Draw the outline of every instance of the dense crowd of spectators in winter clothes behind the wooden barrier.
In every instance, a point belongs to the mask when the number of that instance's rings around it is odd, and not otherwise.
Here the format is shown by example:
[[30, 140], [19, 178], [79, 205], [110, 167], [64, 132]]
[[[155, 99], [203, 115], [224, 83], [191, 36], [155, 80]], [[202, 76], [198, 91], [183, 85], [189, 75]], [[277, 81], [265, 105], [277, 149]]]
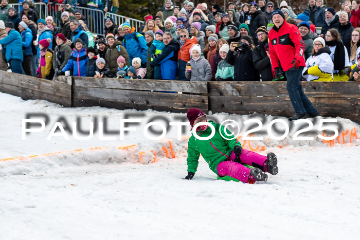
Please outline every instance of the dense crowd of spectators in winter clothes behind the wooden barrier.
[[146, 15], [137, 30], [128, 22], [118, 24], [110, 16], [101, 19], [92, 14], [95, 25], [102, 26], [101, 37], [89, 31], [88, 20], [75, 7], [116, 12], [117, 0], [56, 2], [62, 4], [55, 16], [58, 26], [51, 15], [39, 18], [32, 0], [20, 0], [20, 12], [9, 7], [7, 0], [1, 1], [2, 70], [10, 68], [47, 80], [60, 75], [183, 81], [286, 80], [286, 67], [270, 54], [271, 46], [291, 45], [292, 41], [286, 32], [269, 40], [269, 32], [286, 31], [274, 28], [273, 17], [277, 14], [287, 24], [295, 25], [301, 36], [297, 57], [305, 62], [303, 81], [360, 81], [360, 0], [342, 1], [337, 12], [325, 6], [323, 0], [309, 0], [308, 7], [298, 15], [286, 1], [279, 6], [265, 0], [240, 6], [228, 2], [222, 9], [218, 4], [195, 6], [189, 1], [177, 7], [166, 0], [163, 11]]

